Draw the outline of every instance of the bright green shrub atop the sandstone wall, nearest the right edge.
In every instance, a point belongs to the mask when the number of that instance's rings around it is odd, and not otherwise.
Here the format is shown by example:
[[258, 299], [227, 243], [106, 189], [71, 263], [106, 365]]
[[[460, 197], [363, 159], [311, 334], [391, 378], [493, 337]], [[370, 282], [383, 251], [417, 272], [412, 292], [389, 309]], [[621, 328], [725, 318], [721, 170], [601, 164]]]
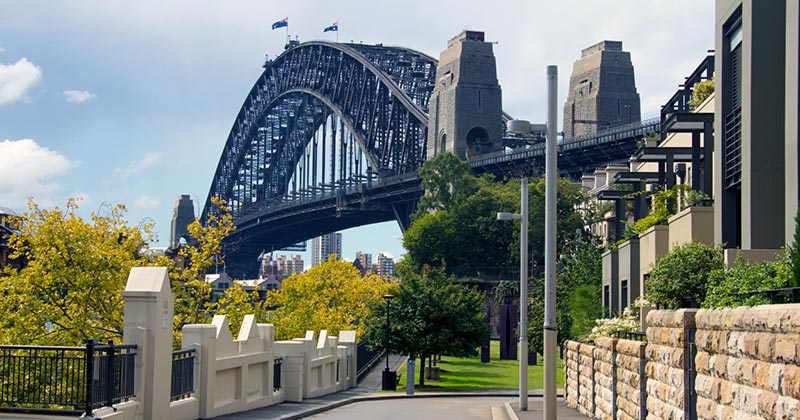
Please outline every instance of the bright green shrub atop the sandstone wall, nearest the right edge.
[[750, 264], [743, 258], [736, 267], [712, 271], [708, 276], [708, 293], [704, 308], [755, 306], [769, 303], [762, 295], [749, 296], [748, 292], [780, 289], [788, 286], [791, 267], [784, 254], [778, 261]]

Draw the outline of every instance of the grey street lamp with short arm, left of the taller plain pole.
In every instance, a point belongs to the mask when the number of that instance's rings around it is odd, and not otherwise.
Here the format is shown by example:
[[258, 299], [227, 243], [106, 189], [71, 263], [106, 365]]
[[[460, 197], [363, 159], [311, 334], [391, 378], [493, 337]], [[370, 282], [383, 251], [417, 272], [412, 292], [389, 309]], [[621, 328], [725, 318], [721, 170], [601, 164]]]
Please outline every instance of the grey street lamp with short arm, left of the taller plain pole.
[[520, 181], [520, 214], [497, 213], [497, 220], [519, 220], [519, 409], [528, 410], [528, 178]]

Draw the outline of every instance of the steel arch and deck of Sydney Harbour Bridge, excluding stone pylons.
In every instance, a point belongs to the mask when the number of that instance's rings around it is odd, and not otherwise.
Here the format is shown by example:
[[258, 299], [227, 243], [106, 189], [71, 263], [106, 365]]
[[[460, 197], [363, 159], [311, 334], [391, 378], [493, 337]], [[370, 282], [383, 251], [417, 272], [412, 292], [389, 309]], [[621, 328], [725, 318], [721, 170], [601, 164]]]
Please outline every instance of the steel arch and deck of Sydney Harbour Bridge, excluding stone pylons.
[[[422, 195], [417, 169], [428, 155], [438, 64], [408, 48], [324, 41], [292, 42], [268, 60], [236, 115], [203, 210], [214, 212], [218, 196], [234, 218], [228, 271], [252, 275], [262, 250], [325, 233], [391, 220], [408, 228]], [[627, 159], [658, 126], [634, 122], [564, 143], [559, 170], [576, 177]], [[541, 172], [543, 138], [504, 131], [502, 144], [470, 155], [473, 171]]]

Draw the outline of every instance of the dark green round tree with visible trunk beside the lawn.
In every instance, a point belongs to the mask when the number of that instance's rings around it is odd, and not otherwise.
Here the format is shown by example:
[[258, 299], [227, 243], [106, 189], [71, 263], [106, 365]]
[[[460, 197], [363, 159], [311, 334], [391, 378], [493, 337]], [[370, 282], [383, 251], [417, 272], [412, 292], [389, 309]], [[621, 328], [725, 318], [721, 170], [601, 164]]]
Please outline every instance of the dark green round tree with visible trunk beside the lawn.
[[[389, 310], [391, 351], [419, 359], [434, 355], [474, 356], [489, 333], [483, 294], [454, 283], [444, 268], [398, 264], [401, 282]], [[366, 337], [375, 348], [386, 342], [386, 303], [374, 302]], [[419, 384], [425, 386], [423, 369]]]

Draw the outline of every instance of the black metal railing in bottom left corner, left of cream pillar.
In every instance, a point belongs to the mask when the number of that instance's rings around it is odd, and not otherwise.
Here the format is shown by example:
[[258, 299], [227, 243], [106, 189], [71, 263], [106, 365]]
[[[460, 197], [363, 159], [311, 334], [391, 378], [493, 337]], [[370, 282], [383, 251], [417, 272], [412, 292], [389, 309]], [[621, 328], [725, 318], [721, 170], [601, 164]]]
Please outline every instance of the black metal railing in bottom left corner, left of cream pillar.
[[134, 396], [136, 345], [0, 346], [0, 411], [92, 410]]

